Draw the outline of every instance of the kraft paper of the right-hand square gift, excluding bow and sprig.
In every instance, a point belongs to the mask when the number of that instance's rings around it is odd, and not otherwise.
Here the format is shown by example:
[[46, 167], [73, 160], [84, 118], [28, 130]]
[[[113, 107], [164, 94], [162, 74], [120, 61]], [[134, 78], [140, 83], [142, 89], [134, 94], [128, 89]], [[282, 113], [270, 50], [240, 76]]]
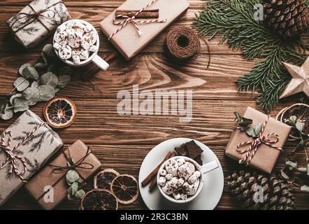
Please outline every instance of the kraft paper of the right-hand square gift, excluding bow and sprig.
[[[268, 116], [266, 114], [261, 113], [251, 107], [247, 107], [245, 113], [243, 114], [244, 118], [250, 118], [253, 120], [252, 126], [255, 127], [259, 123], [265, 123]], [[278, 134], [279, 141], [273, 146], [277, 146], [283, 149], [285, 146], [285, 141], [289, 137], [289, 132], [291, 131], [291, 127], [286, 125], [285, 123], [281, 123], [279, 120], [275, 120], [274, 118], [269, 118], [268, 123], [265, 127], [264, 132], [262, 133], [263, 136], [266, 136], [269, 133]], [[269, 137], [270, 139], [274, 139], [273, 137]], [[245, 141], [253, 141], [254, 139], [248, 136], [245, 132], [240, 131], [238, 129], [234, 130], [231, 134], [231, 139], [229, 140], [229, 144], [227, 144], [227, 148], [225, 154], [232, 158], [233, 160], [241, 160], [245, 158], [245, 153], [238, 153], [236, 148], [238, 144], [243, 143]], [[241, 146], [240, 150], [245, 150], [250, 145]], [[251, 151], [252, 153], [252, 151]], [[253, 156], [252, 160], [249, 163], [250, 167], [254, 169], [258, 169], [262, 172], [266, 172], [271, 174], [273, 172], [273, 168], [278, 160], [281, 151], [275, 149], [271, 146], [267, 146], [266, 144], [260, 144], [257, 147], [257, 151]]]

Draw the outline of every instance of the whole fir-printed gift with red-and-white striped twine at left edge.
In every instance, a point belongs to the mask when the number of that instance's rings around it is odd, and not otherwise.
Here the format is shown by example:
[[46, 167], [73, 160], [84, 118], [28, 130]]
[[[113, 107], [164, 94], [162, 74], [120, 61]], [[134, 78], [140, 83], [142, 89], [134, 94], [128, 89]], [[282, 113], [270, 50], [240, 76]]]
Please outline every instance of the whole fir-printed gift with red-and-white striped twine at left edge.
[[62, 140], [35, 113], [25, 111], [0, 141], [0, 205], [62, 147]]

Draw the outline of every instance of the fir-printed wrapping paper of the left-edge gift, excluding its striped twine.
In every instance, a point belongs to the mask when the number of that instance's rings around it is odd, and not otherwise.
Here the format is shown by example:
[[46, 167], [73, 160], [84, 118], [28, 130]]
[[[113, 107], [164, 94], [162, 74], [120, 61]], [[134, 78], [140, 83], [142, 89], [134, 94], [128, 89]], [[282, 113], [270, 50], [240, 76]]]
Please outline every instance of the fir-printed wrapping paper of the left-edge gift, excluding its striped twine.
[[[7, 129], [12, 132], [10, 148], [13, 149], [21, 138], [41, 123], [43, 123], [43, 120], [35, 113], [31, 111], [22, 113], [22, 116], [17, 118]], [[8, 135], [5, 137], [6, 144], [7, 141]], [[62, 147], [62, 140], [48, 125], [38, 128], [24, 144], [13, 151], [13, 153], [21, 155], [27, 162], [27, 172], [22, 177], [28, 180], [60, 147]], [[3, 153], [0, 148], [0, 161], [3, 162], [4, 160], [6, 160], [6, 153]], [[17, 160], [17, 164], [18, 167], [22, 167], [19, 160]], [[14, 173], [8, 175], [8, 166], [0, 169], [0, 205], [4, 204], [23, 185], [22, 180]]]

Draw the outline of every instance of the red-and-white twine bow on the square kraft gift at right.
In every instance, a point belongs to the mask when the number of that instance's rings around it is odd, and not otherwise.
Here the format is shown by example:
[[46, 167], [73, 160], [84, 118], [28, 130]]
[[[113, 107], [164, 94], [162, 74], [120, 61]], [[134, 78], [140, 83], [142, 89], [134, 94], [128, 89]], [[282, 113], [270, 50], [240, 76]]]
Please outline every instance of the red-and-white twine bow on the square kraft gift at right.
[[[251, 162], [255, 153], [257, 153], [257, 149], [259, 148], [259, 146], [261, 144], [266, 144], [267, 146], [270, 146], [271, 148], [275, 148], [277, 150], [282, 151], [282, 148], [273, 145], [273, 144], [276, 144], [279, 141], [278, 134], [271, 132], [271, 133], [268, 133], [266, 135], [262, 135], [264, 130], [265, 130], [265, 127], [268, 123], [269, 118], [270, 118], [270, 116], [268, 116], [265, 123], [262, 125], [261, 131], [259, 132], [259, 137], [257, 139], [254, 139], [254, 141], [244, 141], [244, 142], [237, 145], [236, 151], [238, 151], [238, 153], [240, 153], [240, 154], [245, 153], [245, 158], [239, 160], [240, 164], [243, 164], [243, 162], [247, 162], [246, 165], [249, 165], [249, 163]], [[273, 137], [274, 139], [271, 139], [271, 137]], [[250, 145], [250, 146], [246, 150], [241, 151], [239, 149], [240, 147], [247, 146], [247, 145]]]

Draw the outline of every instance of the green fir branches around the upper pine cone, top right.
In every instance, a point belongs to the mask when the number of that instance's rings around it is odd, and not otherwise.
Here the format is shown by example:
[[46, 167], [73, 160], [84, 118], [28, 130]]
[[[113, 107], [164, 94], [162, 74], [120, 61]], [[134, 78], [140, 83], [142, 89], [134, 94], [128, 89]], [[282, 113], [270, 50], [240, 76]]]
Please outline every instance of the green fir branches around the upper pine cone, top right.
[[[278, 105], [280, 94], [290, 80], [282, 62], [302, 64], [305, 50], [309, 47], [306, 38], [282, 39], [254, 20], [254, 5], [261, 0], [211, 0], [196, 14], [194, 27], [203, 36], [221, 36], [220, 43], [227, 42], [231, 48], [242, 50], [245, 59], [261, 58], [251, 71], [238, 78], [238, 90], [252, 90], [257, 104], [266, 111]], [[309, 5], [309, 0], [306, 0]], [[303, 96], [301, 96], [303, 97]], [[304, 99], [308, 102], [308, 99]]]

